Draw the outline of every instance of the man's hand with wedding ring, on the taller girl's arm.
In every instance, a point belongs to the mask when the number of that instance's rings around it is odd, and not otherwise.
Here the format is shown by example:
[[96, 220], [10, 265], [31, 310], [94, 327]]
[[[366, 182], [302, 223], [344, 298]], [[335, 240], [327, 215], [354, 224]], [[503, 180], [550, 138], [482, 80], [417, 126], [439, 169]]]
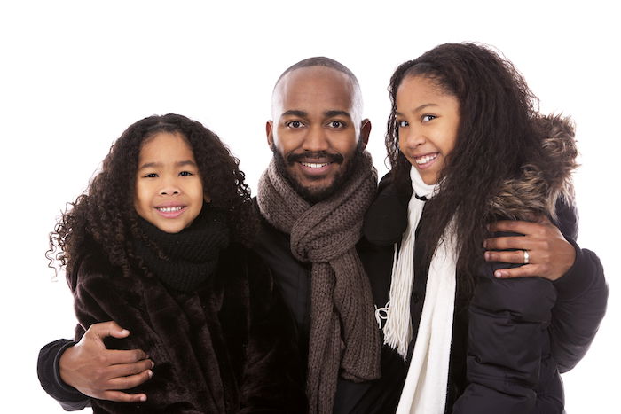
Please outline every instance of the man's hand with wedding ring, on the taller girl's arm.
[[[524, 251], [529, 256], [529, 264], [519, 268], [496, 270], [495, 277], [539, 276], [556, 280], [567, 273], [576, 260], [574, 247], [546, 218], [539, 223], [500, 221], [492, 223], [490, 230], [521, 233], [524, 236], [486, 239], [483, 246], [487, 250], [487, 262], [523, 263]], [[506, 249], [517, 250], [498, 251]]]

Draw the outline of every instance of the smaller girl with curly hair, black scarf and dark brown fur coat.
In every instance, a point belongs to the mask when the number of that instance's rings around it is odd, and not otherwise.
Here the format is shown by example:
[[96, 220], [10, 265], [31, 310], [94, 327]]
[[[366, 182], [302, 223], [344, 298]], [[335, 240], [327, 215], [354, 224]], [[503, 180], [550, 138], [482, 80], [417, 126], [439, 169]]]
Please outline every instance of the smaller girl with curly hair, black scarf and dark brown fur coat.
[[218, 137], [168, 114], [131, 125], [51, 234], [66, 266], [79, 340], [114, 320], [153, 378], [139, 404], [92, 400], [94, 412], [302, 412], [287, 310], [248, 250], [248, 186]]

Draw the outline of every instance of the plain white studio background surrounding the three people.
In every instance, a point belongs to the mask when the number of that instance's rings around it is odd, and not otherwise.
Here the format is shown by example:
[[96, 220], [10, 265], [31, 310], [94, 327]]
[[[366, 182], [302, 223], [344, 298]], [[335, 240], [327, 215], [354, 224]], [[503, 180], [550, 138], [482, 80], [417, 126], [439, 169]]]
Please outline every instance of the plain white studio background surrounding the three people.
[[130, 123], [169, 112], [202, 121], [240, 158], [255, 193], [271, 157], [264, 123], [273, 83], [300, 59], [328, 56], [358, 75], [383, 174], [390, 74], [439, 43], [462, 41], [503, 51], [543, 112], [577, 123], [578, 243], [599, 254], [612, 293], [589, 354], [563, 375], [567, 410], [617, 406], [621, 31], [609, 2], [222, 3], [0, 5], [0, 410], [61, 412], [35, 373], [39, 348], [71, 337], [75, 320], [64, 278], [53, 281], [46, 267], [47, 234]]

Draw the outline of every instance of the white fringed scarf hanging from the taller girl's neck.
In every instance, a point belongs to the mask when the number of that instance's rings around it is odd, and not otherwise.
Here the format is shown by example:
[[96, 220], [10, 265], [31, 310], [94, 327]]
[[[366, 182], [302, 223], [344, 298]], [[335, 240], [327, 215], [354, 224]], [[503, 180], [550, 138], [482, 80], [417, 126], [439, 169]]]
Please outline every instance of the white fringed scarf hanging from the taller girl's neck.
[[[410, 170], [410, 176], [413, 194], [408, 205], [408, 226], [398, 256], [395, 246], [388, 320], [384, 326], [384, 342], [396, 349], [404, 359], [412, 340], [410, 297], [414, 278], [415, 232], [425, 206], [425, 201], [416, 196], [430, 199], [437, 187], [437, 184], [425, 184], [414, 167]], [[421, 324], [397, 414], [444, 413], [455, 304], [457, 252], [454, 238], [454, 224], [451, 222], [444, 230], [429, 265]]]

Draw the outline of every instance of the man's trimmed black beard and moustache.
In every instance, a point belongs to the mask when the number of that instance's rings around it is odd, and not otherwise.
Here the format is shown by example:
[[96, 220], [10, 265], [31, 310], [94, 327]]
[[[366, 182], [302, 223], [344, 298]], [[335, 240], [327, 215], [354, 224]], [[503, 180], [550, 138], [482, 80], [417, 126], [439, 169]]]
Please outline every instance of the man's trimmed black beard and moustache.
[[276, 170], [279, 172], [279, 175], [287, 180], [287, 183], [291, 185], [291, 187], [300, 197], [302, 197], [310, 204], [316, 204], [319, 201], [323, 201], [332, 197], [334, 193], [341, 190], [342, 187], [347, 184], [348, 181], [350, 181], [350, 178], [360, 160], [360, 154], [363, 152], [363, 146], [362, 140], [358, 140], [356, 150], [354, 150], [354, 153], [351, 156], [351, 159], [348, 161], [345, 170], [337, 173], [334, 176], [332, 184], [329, 184], [326, 187], [322, 188], [304, 187], [302, 184], [295, 180], [294, 176], [291, 176], [289, 174], [287, 166], [293, 165], [297, 160], [302, 158], [305, 160], [313, 158], [321, 158], [325, 160], [327, 158], [328, 160], [330, 160], [330, 162], [342, 164], [342, 162], [344, 162], [344, 158], [341, 154], [331, 154], [325, 151], [304, 152], [301, 154], [289, 154], [287, 155], [287, 160], [285, 160], [285, 157], [283, 157], [283, 155], [278, 152], [275, 145], [271, 146], [271, 152], [273, 152], [274, 154], [274, 162], [276, 164]]

